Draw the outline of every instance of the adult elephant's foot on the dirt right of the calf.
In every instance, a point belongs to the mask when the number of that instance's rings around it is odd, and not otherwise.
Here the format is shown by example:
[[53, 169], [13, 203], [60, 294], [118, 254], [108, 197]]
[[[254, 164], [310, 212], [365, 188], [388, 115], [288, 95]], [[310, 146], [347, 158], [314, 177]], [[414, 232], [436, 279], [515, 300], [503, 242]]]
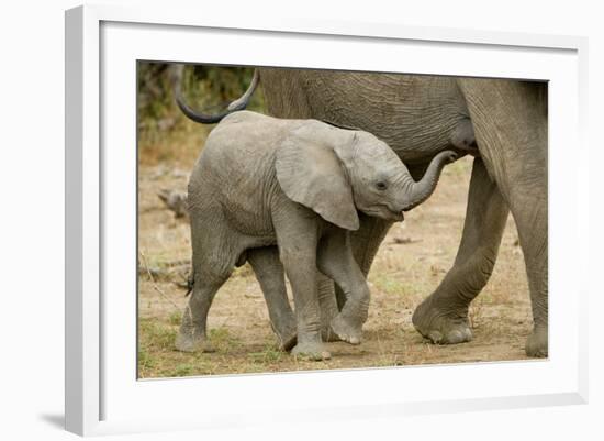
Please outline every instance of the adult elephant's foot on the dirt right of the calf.
[[435, 344], [456, 344], [472, 340], [468, 318], [434, 307], [429, 297], [415, 309], [412, 322], [417, 332]]

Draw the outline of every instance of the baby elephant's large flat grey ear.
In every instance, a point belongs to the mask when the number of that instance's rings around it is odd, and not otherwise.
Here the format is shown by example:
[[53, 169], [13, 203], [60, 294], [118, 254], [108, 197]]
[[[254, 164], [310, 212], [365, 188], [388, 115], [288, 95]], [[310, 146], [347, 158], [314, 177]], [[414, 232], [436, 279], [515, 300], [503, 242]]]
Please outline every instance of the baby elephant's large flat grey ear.
[[312, 209], [327, 222], [358, 230], [353, 189], [328, 145], [316, 142], [309, 133], [294, 133], [277, 151], [275, 167], [288, 198]]

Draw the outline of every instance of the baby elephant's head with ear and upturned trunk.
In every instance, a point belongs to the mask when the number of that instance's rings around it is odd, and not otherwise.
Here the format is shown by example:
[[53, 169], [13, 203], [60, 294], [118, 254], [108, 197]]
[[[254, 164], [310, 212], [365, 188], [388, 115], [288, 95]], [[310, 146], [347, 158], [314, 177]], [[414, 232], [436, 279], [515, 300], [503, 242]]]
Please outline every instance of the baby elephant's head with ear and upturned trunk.
[[357, 210], [400, 221], [436, 188], [451, 151], [434, 157], [413, 180], [396, 154], [370, 133], [312, 121], [293, 131], [277, 152], [277, 178], [286, 195], [338, 227], [356, 230]]

